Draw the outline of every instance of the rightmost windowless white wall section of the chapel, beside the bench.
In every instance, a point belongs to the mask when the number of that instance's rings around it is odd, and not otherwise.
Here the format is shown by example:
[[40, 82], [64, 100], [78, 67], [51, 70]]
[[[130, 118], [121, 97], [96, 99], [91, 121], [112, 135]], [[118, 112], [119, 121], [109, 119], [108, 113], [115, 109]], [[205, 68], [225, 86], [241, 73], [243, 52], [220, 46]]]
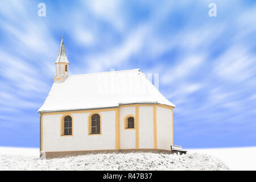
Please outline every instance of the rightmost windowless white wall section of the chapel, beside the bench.
[[157, 106], [156, 125], [158, 148], [170, 150], [172, 144], [172, 110]]

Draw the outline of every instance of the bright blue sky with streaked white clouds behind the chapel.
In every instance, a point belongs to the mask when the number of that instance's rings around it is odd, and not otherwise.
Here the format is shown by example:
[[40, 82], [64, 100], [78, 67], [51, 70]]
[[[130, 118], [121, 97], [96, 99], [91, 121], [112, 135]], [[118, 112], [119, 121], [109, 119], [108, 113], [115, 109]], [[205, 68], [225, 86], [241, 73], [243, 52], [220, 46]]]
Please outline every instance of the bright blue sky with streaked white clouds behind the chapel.
[[244, 0], [0, 1], [0, 146], [39, 147], [62, 34], [69, 75], [159, 73], [175, 144], [256, 146], [256, 3]]

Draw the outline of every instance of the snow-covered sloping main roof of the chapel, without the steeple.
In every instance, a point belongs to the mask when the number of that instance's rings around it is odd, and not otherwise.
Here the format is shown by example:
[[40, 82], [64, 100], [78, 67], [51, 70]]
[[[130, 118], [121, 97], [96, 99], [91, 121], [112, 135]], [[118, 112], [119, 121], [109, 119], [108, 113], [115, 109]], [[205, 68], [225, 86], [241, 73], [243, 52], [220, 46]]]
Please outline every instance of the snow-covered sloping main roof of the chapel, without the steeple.
[[100, 109], [125, 104], [175, 107], [139, 69], [68, 76], [52, 88], [38, 112]]

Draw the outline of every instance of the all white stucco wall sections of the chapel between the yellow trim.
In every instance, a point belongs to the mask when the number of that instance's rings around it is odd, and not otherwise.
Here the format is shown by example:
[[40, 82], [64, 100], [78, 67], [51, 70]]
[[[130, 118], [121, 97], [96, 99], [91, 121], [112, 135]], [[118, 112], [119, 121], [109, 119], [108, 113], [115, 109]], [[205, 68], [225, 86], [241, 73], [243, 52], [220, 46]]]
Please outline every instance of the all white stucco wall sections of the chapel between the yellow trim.
[[[88, 134], [90, 113], [71, 113], [73, 136], [60, 135], [63, 114], [42, 115], [43, 151], [81, 151], [115, 149], [115, 111], [101, 111], [101, 135]], [[135, 106], [120, 107], [120, 149], [136, 148], [136, 130], [125, 129], [125, 117], [134, 115]], [[137, 120], [135, 119], [135, 126]], [[170, 150], [172, 144], [172, 110], [156, 106], [157, 148]], [[154, 107], [139, 106], [139, 148], [154, 148]]]

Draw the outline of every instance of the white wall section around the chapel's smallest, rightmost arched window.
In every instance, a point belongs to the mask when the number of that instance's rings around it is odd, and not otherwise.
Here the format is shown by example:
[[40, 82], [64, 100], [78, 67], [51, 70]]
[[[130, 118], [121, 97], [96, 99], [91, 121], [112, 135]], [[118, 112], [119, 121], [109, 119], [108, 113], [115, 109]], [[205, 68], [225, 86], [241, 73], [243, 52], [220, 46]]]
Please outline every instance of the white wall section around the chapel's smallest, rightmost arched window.
[[121, 107], [120, 108], [120, 148], [130, 149], [136, 147], [136, 131], [135, 130], [125, 130], [125, 117], [126, 115], [135, 116], [135, 107]]

